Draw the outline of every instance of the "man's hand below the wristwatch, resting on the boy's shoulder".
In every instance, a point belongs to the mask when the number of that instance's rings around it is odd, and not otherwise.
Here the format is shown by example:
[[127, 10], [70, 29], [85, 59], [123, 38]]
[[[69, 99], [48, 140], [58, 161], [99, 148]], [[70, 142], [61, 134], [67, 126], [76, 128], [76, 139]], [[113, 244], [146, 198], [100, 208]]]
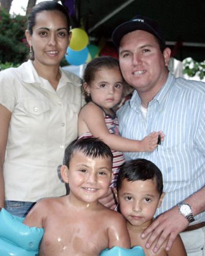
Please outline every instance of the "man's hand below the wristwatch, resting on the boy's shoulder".
[[179, 213], [178, 206], [160, 214], [156, 220], [141, 234], [141, 238], [149, 239], [146, 243], [146, 248], [150, 248], [156, 238], [156, 244], [153, 252], [157, 252], [160, 246], [169, 237], [166, 250], [170, 250], [176, 236], [189, 226], [188, 220]]

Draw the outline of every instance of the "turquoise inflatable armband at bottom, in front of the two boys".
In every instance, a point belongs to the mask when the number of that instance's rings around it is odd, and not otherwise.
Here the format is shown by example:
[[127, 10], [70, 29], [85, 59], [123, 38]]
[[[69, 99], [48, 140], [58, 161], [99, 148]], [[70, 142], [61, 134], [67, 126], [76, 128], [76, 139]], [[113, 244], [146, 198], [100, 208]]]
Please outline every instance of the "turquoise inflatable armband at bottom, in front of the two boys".
[[100, 256], [145, 256], [145, 252], [140, 246], [133, 246], [131, 249], [113, 246], [111, 249], [107, 248], [101, 251], [99, 255]]

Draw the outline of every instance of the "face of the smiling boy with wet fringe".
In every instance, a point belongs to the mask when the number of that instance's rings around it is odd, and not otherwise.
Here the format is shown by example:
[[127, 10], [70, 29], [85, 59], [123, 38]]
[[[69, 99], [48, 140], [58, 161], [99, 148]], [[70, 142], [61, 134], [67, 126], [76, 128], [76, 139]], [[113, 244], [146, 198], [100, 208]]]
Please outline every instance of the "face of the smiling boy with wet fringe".
[[70, 197], [85, 203], [97, 202], [109, 189], [111, 170], [110, 157], [92, 158], [76, 151], [68, 169]]

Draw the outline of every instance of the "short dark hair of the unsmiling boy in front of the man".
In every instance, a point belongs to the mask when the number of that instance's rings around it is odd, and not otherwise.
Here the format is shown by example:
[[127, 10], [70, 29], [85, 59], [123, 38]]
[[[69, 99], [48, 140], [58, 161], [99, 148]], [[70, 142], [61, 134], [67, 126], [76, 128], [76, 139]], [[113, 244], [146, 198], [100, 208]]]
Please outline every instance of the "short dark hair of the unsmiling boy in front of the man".
[[155, 180], [159, 195], [161, 195], [163, 192], [163, 179], [161, 171], [149, 160], [130, 160], [122, 165], [117, 179], [117, 191], [120, 189], [122, 181], [125, 179], [128, 181]]

